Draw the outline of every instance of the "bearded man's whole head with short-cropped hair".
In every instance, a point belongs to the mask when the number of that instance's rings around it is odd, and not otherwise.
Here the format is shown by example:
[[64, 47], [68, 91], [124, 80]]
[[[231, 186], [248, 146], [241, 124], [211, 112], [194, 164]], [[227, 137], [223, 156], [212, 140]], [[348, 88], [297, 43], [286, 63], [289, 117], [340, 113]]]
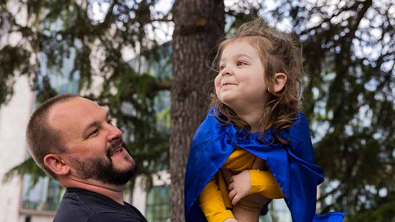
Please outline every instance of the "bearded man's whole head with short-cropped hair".
[[78, 95], [63, 94], [43, 103], [26, 135], [36, 163], [55, 179], [73, 176], [123, 185], [135, 173], [135, 162], [108, 112]]

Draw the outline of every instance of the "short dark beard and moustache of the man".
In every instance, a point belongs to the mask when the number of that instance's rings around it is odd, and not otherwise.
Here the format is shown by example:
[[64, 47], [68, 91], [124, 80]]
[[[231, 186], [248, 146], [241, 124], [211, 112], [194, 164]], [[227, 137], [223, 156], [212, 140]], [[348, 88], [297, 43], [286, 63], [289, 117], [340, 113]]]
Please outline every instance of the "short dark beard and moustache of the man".
[[[106, 150], [106, 157], [93, 157], [87, 159], [80, 159], [78, 157], [70, 157], [72, 166], [78, 170], [79, 178], [86, 180], [98, 180], [105, 184], [110, 185], [124, 185], [136, 173], [136, 163], [131, 160], [131, 165], [126, 169], [116, 169], [111, 159], [110, 152], [114, 147], [118, 147], [122, 143], [122, 147], [126, 149], [127, 153], [130, 152], [126, 148], [126, 144], [119, 141], [114, 143]], [[118, 146], [117, 146], [118, 145]], [[131, 155], [130, 155], [131, 156]], [[126, 157], [125, 157], [126, 158]]]

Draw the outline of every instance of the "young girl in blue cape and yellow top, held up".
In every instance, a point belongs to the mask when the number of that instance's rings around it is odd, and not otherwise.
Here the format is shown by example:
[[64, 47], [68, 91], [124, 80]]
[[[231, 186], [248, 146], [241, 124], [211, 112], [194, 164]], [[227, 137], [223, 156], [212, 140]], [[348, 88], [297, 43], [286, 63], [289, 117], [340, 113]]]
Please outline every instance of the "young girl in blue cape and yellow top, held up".
[[315, 214], [323, 176], [297, 109], [300, 54], [291, 35], [261, 19], [220, 43], [212, 108], [195, 133], [186, 169], [187, 222], [256, 222], [267, 198], [285, 198], [293, 222], [343, 221], [342, 213]]

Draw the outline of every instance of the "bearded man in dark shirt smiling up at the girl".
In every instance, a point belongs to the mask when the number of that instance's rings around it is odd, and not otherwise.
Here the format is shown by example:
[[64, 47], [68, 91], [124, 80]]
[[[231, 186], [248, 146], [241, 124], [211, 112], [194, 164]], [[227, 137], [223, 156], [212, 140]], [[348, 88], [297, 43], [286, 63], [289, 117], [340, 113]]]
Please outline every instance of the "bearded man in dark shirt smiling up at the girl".
[[75, 94], [43, 103], [26, 132], [36, 163], [66, 187], [54, 222], [147, 222], [123, 201], [133, 158], [109, 113]]

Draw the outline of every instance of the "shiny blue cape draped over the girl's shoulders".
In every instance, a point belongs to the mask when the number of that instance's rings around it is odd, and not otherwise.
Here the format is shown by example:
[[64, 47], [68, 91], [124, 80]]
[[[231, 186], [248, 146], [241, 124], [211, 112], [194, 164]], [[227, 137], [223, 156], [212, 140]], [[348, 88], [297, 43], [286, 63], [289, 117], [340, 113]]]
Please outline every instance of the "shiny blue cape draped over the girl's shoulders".
[[279, 136], [290, 143], [276, 140], [273, 129], [265, 131], [265, 143], [260, 132], [245, 134], [232, 123], [223, 126], [213, 116], [213, 108], [197, 128], [192, 140], [185, 174], [186, 222], [206, 221], [197, 201], [205, 185], [218, 172], [235, 146], [266, 160], [285, 194], [285, 202], [293, 222], [342, 222], [343, 213], [316, 215], [316, 186], [323, 182], [322, 169], [314, 164], [309, 124], [300, 112], [295, 126], [282, 130]]

